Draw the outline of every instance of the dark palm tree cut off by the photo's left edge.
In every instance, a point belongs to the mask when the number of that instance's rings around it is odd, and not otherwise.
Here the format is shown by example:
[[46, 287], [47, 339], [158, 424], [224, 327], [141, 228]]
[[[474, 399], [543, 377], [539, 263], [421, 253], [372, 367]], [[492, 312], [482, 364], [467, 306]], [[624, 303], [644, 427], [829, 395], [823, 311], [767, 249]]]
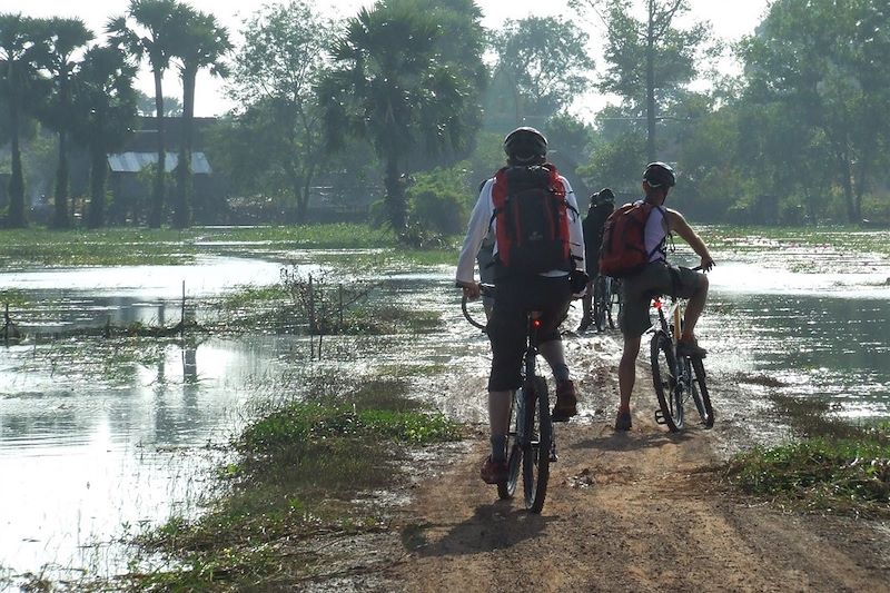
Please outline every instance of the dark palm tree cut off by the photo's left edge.
[[40, 39], [41, 27], [40, 19], [0, 14], [0, 93], [6, 98], [9, 109], [12, 152], [7, 224], [13, 228], [22, 228], [28, 224], [24, 217], [24, 180], [19, 134], [26, 98], [34, 88], [38, 67], [46, 56], [46, 46]]

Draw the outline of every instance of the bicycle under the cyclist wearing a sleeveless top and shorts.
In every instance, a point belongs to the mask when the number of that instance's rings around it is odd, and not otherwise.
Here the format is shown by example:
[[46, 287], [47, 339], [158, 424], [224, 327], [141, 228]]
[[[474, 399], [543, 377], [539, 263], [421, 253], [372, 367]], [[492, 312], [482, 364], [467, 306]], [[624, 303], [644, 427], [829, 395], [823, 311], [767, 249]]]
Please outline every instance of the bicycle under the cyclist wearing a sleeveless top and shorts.
[[[704, 364], [698, 356], [678, 356], [676, 345], [683, 329], [683, 300], [671, 297], [670, 312], [665, 315], [661, 295], [653, 299], [659, 312], [659, 326], [651, 342], [652, 382], [659, 407], [655, 422], [665, 424], [672, 433], [684, 427], [684, 406], [692, 398], [702, 424], [714, 425], [714, 409], [708, 393]], [[671, 322], [668, 322], [670, 317]]]

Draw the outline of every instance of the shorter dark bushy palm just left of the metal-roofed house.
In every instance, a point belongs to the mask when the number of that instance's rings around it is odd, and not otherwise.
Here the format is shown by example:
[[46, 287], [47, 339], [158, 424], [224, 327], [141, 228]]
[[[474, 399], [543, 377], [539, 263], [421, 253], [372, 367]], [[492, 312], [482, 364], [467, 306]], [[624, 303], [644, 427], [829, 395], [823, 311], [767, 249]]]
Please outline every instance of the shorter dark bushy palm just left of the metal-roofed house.
[[90, 157], [87, 226], [105, 225], [108, 155], [123, 146], [136, 121], [136, 67], [115, 47], [92, 47], [73, 80], [75, 139]]

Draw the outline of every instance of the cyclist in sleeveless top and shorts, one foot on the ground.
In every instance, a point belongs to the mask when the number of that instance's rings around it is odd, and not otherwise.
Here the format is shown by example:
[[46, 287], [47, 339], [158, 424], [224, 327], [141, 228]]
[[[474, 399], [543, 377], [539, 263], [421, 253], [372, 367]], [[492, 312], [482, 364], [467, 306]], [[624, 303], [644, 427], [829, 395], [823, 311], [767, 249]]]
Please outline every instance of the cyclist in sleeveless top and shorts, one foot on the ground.
[[653, 294], [688, 298], [685, 325], [678, 345], [680, 353], [704, 357], [705, 350], [695, 339], [695, 323], [704, 310], [708, 299], [708, 277], [690, 268], [668, 264], [668, 237], [676, 233], [701, 257], [701, 269], [710, 270], [714, 260], [701, 237], [692, 230], [679, 211], [664, 207], [668, 192], [676, 185], [674, 170], [664, 162], [650, 162], [643, 171], [645, 197], [635, 204], [652, 205], [645, 223], [645, 249], [649, 264], [622, 281], [624, 307], [619, 325], [624, 335], [624, 350], [619, 364], [619, 389], [621, 403], [615, 418], [616, 431], [631, 429], [631, 392], [636, 380], [635, 364], [640, 353], [640, 338], [652, 325], [649, 316]]

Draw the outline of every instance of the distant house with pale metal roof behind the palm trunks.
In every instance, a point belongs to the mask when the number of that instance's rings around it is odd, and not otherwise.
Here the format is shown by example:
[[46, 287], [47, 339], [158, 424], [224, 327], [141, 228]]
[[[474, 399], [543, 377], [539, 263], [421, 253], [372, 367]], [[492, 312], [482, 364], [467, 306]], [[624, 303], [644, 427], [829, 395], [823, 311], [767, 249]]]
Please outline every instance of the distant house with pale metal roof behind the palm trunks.
[[[192, 210], [201, 223], [220, 223], [225, 219], [227, 189], [204, 151], [207, 129], [216, 118], [195, 118], [192, 128]], [[113, 195], [110, 216], [116, 223], [134, 223], [145, 218], [151, 199], [151, 180], [157, 154], [157, 120], [140, 117], [139, 128], [120, 152], [108, 155], [109, 185]], [[181, 118], [165, 118], [164, 144], [166, 146], [164, 170], [167, 177], [166, 204], [169, 211], [175, 195], [174, 170], [179, 164], [179, 145], [182, 138]]]

